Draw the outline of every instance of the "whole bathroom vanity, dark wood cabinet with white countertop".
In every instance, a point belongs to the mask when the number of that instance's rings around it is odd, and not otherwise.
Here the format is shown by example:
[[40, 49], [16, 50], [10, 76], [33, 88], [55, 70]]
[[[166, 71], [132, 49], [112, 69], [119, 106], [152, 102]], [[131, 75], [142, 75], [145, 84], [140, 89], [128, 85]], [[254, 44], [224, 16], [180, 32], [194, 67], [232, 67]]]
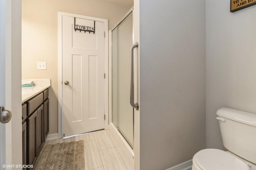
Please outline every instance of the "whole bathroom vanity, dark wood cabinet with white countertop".
[[49, 132], [50, 79], [34, 81], [35, 86], [22, 88], [22, 162], [34, 165]]

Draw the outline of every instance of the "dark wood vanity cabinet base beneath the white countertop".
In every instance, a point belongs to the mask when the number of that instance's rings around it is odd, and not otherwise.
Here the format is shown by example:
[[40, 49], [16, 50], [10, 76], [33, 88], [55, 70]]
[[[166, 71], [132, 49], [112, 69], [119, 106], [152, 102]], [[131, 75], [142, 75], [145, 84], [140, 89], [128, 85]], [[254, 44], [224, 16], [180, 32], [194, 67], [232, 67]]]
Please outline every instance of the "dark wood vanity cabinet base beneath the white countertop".
[[[25, 102], [27, 119], [22, 119], [23, 164], [35, 165], [49, 132], [48, 89]], [[22, 115], [25, 106], [22, 105]]]

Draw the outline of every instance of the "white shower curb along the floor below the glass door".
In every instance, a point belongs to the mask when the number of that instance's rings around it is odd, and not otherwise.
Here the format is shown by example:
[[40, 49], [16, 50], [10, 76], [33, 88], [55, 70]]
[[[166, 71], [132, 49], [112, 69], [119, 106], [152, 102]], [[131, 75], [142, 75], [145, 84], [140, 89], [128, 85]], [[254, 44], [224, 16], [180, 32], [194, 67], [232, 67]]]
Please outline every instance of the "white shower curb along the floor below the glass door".
[[134, 152], [132, 148], [128, 145], [126, 140], [124, 140], [123, 136], [120, 134], [120, 132], [118, 132], [112, 123], [110, 123], [109, 129], [124, 156], [126, 157], [126, 160], [132, 167], [134, 167]]

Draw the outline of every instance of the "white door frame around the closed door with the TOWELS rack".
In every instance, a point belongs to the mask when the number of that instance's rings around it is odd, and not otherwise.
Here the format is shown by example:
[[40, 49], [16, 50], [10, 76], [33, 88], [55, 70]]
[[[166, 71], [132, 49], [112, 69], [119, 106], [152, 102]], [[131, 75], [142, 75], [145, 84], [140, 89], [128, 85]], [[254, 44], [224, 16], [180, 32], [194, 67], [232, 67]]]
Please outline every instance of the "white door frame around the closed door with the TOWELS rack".
[[70, 14], [66, 12], [58, 12], [58, 138], [63, 137], [62, 124], [62, 16], [70, 16], [82, 18], [86, 20], [95, 20], [104, 23], [105, 39], [104, 39], [104, 71], [106, 74], [104, 83], [104, 109], [105, 109], [105, 129], [108, 129], [108, 20], [102, 18], [95, 18], [90, 16], [83, 16], [78, 14]]

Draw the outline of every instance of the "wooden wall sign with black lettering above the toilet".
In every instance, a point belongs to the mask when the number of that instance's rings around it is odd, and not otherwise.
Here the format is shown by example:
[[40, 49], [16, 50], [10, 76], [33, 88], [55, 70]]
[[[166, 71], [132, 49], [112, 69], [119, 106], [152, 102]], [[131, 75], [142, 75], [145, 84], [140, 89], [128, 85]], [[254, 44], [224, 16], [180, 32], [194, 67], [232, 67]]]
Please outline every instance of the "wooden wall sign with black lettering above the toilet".
[[256, 0], [230, 0], [230, 12], [236, 12], [255, 4]]

